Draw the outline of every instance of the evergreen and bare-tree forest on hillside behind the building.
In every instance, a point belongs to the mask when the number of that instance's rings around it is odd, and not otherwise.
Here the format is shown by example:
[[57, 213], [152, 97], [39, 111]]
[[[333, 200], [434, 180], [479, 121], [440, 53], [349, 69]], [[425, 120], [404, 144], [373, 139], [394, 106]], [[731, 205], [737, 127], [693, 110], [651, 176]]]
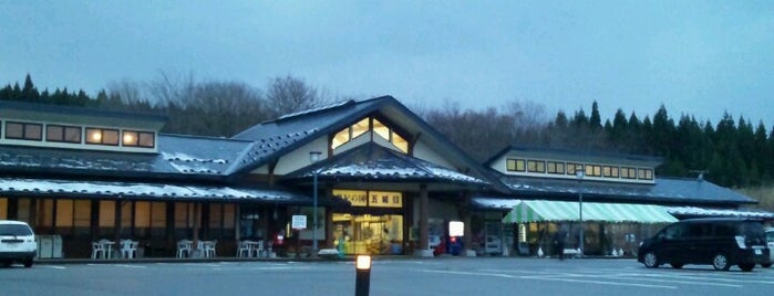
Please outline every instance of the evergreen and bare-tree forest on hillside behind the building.
[[[330, 97], [293, 76], [271, 78], [259, 88], [162, 73], [152, 82], [112, 83], [95, 97], [68, 88], [39, 91], [30, 75], [21, 85], [0, 88], [6, 101], [164, 115], [168, 123], [163, 133], [211, 137], [230, 137], [283, 114], [350, 98], [355, 97]], [[514, 145], [657, 156], [663, 158], [657, 176], [702, 175], [730, 188], [771, 186], [774, 178], [774, 130], [727, 113], [713, 124], [690, 115], [673, 118], [663, 106], [652, 117], [618, 109], [602, 121], [596, 102], [588, 115], [584, 109], [547, 115], [539, 104], [516, 101], [482, 110], [448, 103], [412, 110], [481, 162]]]

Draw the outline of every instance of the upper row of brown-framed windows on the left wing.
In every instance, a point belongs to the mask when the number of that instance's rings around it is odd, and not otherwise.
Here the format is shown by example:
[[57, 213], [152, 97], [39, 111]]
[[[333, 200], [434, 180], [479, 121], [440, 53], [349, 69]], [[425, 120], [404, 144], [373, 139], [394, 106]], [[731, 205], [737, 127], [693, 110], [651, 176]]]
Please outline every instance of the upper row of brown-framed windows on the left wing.
[[[45, 130], [45, 131], [43, 131]], [[85, 134], [83, 133], [85, 130]], [[45, 134], [44, 134], [45, 133]], [[6, 121], [6, 139], [154, 148], [152, 131]]]

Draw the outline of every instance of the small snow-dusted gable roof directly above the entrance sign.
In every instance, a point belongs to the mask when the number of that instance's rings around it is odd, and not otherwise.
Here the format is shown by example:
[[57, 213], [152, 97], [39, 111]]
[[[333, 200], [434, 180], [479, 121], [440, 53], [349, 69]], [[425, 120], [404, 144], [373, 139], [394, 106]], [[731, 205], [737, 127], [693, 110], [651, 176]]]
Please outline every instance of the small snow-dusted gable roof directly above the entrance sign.
[[389, 149], [374, 142], [361, 145], [329, 160], [299, 170], [286, 179], [309, 178], [313, 171], [338, 180], [431, 181], [487, 184], [486, 181], [422, 159]]

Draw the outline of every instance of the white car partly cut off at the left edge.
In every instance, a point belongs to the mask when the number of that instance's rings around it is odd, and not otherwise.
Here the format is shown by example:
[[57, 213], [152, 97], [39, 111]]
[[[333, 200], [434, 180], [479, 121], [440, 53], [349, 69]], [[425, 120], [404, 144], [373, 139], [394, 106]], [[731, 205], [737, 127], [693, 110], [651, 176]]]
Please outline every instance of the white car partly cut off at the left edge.
[[32, 267], [38, 253], [35, 234], [29, 224], [21, 221], [0, 220], [0, 263], [10, 266], [13, 262]]

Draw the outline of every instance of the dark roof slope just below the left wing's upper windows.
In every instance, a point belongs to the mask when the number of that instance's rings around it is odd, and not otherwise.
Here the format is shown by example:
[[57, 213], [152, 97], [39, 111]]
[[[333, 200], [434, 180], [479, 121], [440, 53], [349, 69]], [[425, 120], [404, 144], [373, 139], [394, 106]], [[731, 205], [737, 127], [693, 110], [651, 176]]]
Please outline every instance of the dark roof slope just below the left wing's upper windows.
[[158, 154], [0, 146], [0, 171], [117, 177], [224, 177], [251, 145], [224, 138], [158, 135]]

